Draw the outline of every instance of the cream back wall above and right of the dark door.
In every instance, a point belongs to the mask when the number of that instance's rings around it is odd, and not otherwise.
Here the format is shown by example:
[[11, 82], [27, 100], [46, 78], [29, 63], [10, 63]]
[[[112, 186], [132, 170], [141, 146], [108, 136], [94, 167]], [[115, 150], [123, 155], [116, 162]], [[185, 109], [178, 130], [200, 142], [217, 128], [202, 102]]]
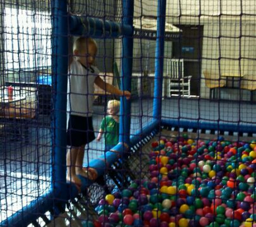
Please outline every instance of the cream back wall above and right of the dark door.
[[[167, 2], [167, 22], [204, 25], [202, 72], [220, 69], [222, 74], [247, 74], [256, 80], [255, 1], [171, 0]], [[201, 97], [209, 97], [203, 80]]]

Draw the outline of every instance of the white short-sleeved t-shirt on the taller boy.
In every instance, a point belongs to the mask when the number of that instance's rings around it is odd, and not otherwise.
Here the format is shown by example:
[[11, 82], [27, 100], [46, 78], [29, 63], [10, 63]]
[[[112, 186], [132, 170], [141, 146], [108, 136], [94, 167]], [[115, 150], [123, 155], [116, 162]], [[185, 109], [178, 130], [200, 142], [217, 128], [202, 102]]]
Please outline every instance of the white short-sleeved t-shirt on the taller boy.
[[67, 82], [67, 114], [83, 117], [92, 116], [94, 81], [99, 75], [98, 68], [87, 68], [76, 59], [70, 65]]

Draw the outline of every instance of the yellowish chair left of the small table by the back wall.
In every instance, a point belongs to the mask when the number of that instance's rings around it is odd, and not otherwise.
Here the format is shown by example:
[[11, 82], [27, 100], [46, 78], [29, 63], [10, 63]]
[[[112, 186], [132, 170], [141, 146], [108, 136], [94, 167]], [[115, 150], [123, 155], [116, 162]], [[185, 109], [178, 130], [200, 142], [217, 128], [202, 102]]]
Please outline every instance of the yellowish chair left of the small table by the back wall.
[[211, 73], [207, 70], [204, 70], [205, 77], [205, 86], [210, 88], [210, 96], [209, 98], [215, 98], [215, 89], [223, 88], [226, 86], [226, 81], [220, 79], [220, 75], [218, 73]]

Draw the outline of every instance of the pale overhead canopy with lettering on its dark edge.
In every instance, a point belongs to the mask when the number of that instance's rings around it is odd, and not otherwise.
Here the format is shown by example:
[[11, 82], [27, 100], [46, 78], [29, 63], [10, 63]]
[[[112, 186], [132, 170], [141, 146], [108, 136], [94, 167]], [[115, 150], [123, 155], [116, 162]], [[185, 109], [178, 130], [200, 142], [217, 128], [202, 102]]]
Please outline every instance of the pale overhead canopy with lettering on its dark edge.
[[[142, 17], [133, 20], [134, 37], [156, 39], [157, 20], [155, 18]], [[165, 22], [165, 39], [175, 41], [181, 35], [182, 30]]]

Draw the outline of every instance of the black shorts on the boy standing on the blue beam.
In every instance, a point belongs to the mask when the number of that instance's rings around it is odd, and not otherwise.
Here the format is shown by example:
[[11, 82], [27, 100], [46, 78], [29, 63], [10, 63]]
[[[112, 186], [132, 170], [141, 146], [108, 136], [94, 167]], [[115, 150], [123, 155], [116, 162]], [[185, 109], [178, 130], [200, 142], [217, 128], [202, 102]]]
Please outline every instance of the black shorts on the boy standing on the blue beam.
[[67, 146], [80, 147], [95, 139], [92, 117], [70, 115], [67, 127]]

